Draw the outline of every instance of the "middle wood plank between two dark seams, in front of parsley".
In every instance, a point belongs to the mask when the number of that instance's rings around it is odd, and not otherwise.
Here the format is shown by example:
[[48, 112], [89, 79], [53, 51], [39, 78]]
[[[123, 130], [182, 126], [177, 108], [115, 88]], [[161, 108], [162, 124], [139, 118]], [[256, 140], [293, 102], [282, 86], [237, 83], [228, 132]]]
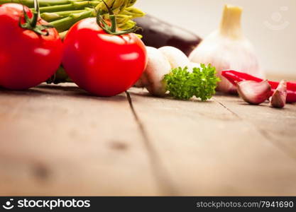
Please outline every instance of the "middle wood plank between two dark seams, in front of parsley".
[[[136, 88], [130, 93], [177, 194], [296, 195], [296, 160], [241, 119], [241, 113], [250, 115], [248, 106], [241, 105], [245, 108], [237, 115], [215, 100], [153, 98]], [[280, 116], [276, 112], [273, 116]]]

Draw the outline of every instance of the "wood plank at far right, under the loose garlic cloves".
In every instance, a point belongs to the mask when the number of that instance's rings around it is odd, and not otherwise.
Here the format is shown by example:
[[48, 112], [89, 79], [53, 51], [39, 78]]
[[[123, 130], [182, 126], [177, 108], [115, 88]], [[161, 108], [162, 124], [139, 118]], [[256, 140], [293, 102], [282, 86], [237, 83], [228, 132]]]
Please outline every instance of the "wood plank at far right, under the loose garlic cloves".
[[244, 121], [253, 124], [268, 141], [296, 160], [295, 104], [287, 104], [283, 109], [276, 109], [269, 107], [268, 102], [249, 105], [230, 95], [217, 95], [215, 99]]

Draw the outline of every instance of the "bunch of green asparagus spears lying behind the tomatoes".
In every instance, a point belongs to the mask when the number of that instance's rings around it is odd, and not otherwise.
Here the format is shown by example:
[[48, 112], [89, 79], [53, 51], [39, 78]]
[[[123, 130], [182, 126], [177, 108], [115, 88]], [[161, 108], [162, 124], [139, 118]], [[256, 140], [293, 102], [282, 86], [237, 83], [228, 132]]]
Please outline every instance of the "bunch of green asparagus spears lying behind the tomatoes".
[[[33, 9], [35, 0], [0, 0], [0, 4], [16, 3], [23, 4]], [[108, 8], [116, 15], [116, 22], [121, 30], [136, 26], [132, 19], [144, 16], [138, 8], [133, 8], [136, 0], [38, 0], [40, 5], [40, 16], [48, 21], [61, 35], [66, 30], [84, 18], [96, 17], [97, 11], [102, 11], [105, 19], [109, 19]], [[104, 4], [106, 3], [106, 5]]]

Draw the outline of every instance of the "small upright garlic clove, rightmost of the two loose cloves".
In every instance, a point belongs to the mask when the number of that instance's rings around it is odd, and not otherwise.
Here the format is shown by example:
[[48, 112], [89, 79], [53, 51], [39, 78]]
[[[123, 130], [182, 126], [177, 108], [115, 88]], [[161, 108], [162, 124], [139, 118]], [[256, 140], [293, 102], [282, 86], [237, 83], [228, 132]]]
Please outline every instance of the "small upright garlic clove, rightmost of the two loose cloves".
[[285, 107], [286, 99], [287, 99], [287, 82], [280, 81], [280, 84], [278, 84], [278, 88], [275, 89], [275, 92], [270, 97], [270, 106], [283, 108]]

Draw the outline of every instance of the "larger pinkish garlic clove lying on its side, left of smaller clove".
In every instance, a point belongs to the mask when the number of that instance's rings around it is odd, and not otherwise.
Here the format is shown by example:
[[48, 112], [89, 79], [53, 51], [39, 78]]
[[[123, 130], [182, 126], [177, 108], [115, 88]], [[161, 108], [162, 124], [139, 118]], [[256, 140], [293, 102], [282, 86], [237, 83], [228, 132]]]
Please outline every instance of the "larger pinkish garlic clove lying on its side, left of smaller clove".
[[237, 83], [239, 96], [252, 105], [259, 105], [270, 97], [271, 86], [268, 81], [241, 81]]

